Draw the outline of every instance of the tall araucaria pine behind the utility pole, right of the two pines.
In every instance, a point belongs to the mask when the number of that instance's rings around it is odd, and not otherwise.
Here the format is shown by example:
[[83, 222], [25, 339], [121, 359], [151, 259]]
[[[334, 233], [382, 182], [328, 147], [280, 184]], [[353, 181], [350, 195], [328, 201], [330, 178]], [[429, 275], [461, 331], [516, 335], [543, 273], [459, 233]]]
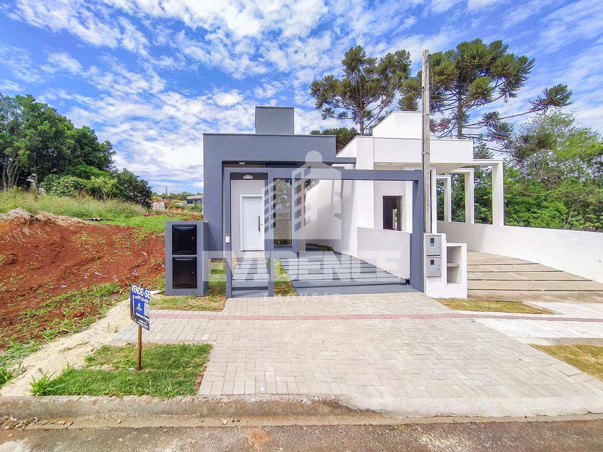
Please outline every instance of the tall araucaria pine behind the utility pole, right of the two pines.
[[[441, 117], [432, 121], [431, 129], [439, 137], [479, 138], [513, 147], [514, 127], [505, 119], [546, 112], [549, 108], [569, 105], [572, 91], [558, 84], [532, 99], [531, 108], [514, 115], [501, 116], [487, 111], [479, 118], [472, 114], [485, 105], [517, 97], [528, 79], [534, 60], [508, 51], [508, 45], [496, 40], [486, 45], [481, 39], [461, 42], [455, 49], [431, 55], [431, 108]], [[408, 78], [400, 87], [400, 110], [418, 110], [421, 96], [421, 73]]]

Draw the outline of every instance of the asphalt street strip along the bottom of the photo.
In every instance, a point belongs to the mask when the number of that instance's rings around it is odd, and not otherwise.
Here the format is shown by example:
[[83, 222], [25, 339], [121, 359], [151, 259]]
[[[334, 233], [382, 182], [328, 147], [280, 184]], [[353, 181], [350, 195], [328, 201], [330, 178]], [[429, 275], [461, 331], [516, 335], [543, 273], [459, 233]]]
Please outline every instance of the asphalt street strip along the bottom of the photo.
[[603, 419], [393, 425], [26, 428], [0, 452], [601, 452]]

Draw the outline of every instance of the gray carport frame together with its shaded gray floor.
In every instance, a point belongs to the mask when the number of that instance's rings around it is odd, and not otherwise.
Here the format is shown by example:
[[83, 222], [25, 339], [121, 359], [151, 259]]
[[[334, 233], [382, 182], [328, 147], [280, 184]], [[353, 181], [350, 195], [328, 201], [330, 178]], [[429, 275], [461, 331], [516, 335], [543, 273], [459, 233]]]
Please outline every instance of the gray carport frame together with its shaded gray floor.
[[[285, 270], [289, 274], [289, 278], [297, 290], [298, 287], [303, 292], [312, 292], [312, 288], [321, 287], [324, 291], [330, 290], [329, 293], [378, 293], [383, 292], [388, 287], [384, 286], [399, 286], [396, 289], [405, 290], [414, 289], [420, 292], [423, 291], [423, 172], [420, 170], [403, 171], [403, 170], [367, 170], [367, 169], [344, 169], [340, 167], [330, 168], [224, 168], [224, 186], [223, 186], [223, 209], [224, 209], [224, 235], [231, 235], [231, 211], [230, 211], [230, 184], [232, 180], [248, 177], [261, 177], [264, 180], [266, 193], [270, 193], [270, 187], [274, 186], [274, 180], [279, 178], [288, 178], [293, 181], [294, 190], [298, 190], [299, 181], [308, 179], [317, 180], [350, 180], [350, 181], [411, 181], [412, 182], [412, 234], [410, 246], [410, 278], [409, 285], [406, 280], [398, 278], [393, 274], [383, 271], [376, 266], [361, 261], [360, 259], [352, 262], [352, 258], [345, 255], [330, 256], [325, 261], [324, 256], [319, 260], [312, 262], [303, 256], [303, 253], [297, 254], [297, 237], [295, 228], [292, 231], [292, 246], [288, 250], [283, 247], [275, 247], [273, 240], [274, 212], [271, 206], [271, 196], [265, 196], [265, 219], [264, 219], [264, 241], [265, 241], [265, 259], [268, 260], [268, 269], [274, 268], [274, 260], [280, 259], [283, 262]], [[295, 192], [293, 199], [292, 211], [295, 215], [300, 215], [299, 198]], [[295, 220], [295, 218], [294, 218]], [[232, 281], [232, 245], [230, 240], [225, 243], [226, 255], [226, 297], [233, 296], [233, 281]], [[348, 259], [349, 258], [349, 259]], [[293, 259], [293, 260], [291, 260]], [[301, 259], [301, 260], [300, 260]], [[325, 263], [327, 264], [325, 272]], [[300, 266], [305, 270], [304, 277], [291, 277], [294, 268], [300, 269]], [[346, 269], [347, 266], [347, 269]], [[311, 268], [312, 267], [312, 268]], [[339, 271], [332, 271], [337, 268]], [[366, 271], [361, 271], [362, 269]], [[312, 270], [313, 273], [306, 271]], [[357, 271], [356, 271], [357, 270]], [[341, 277], [343, 272], [343, 277]], [[308, 276], [314, 275], [314, 276]], [[333, 277], [336, 275], [336, 277]], [[325, 284], [325, 276], [327, 282]], [[294, 282], [295, 281], [295, 282]], [[263, 284], [262, 284], [263, 285]], [[266, 281], [266, 294], [268, 297], [274, 296], [274, 272], [268, 271], [268, 280]], [[328, 287], [328, 289], [327, 289]], [[352, 288], [350, 288], [352, 287]], [[355, 288], [354, 288], [355, 287]], [[338, 288], [337, 292], [333, 292], [334, 288]], [[371, 292], [371, 289], [374, 292]], [[389, 287], [392, 289], [392, 287]], [[360, 290], [353, 291], [353, 290]], [[395, 291], [395, 290], [394, 290]], [[299, 293], [299, 292], [298, 292]]]

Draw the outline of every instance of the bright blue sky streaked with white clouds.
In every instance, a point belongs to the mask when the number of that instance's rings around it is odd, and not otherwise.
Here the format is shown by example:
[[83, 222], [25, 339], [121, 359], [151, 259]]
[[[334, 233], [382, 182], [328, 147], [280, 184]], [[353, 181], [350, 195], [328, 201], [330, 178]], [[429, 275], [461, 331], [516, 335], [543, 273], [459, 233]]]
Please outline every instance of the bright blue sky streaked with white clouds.
[[254, 105], [321, 121], [308, 86], [369, 55], [502, 39], [536, 59], [519, 97], [567, 83], [582, 124], [603, 131], [603, 2], [598, 0], [0, 0], [0, 92], [30, 93], [110, 140], [118, 168], [156, 189], [200, 191], [204, 132], [253, 131]]

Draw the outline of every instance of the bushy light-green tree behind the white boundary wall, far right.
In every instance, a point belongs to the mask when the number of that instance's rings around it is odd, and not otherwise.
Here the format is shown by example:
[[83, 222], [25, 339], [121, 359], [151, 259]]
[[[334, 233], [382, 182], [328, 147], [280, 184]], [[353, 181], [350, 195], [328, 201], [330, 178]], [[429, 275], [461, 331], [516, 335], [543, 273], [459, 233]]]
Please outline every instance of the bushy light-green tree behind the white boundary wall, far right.
[[520, 128], [505, 180], [508, 224], [603, 229], [603, 137], [567, 113]]

